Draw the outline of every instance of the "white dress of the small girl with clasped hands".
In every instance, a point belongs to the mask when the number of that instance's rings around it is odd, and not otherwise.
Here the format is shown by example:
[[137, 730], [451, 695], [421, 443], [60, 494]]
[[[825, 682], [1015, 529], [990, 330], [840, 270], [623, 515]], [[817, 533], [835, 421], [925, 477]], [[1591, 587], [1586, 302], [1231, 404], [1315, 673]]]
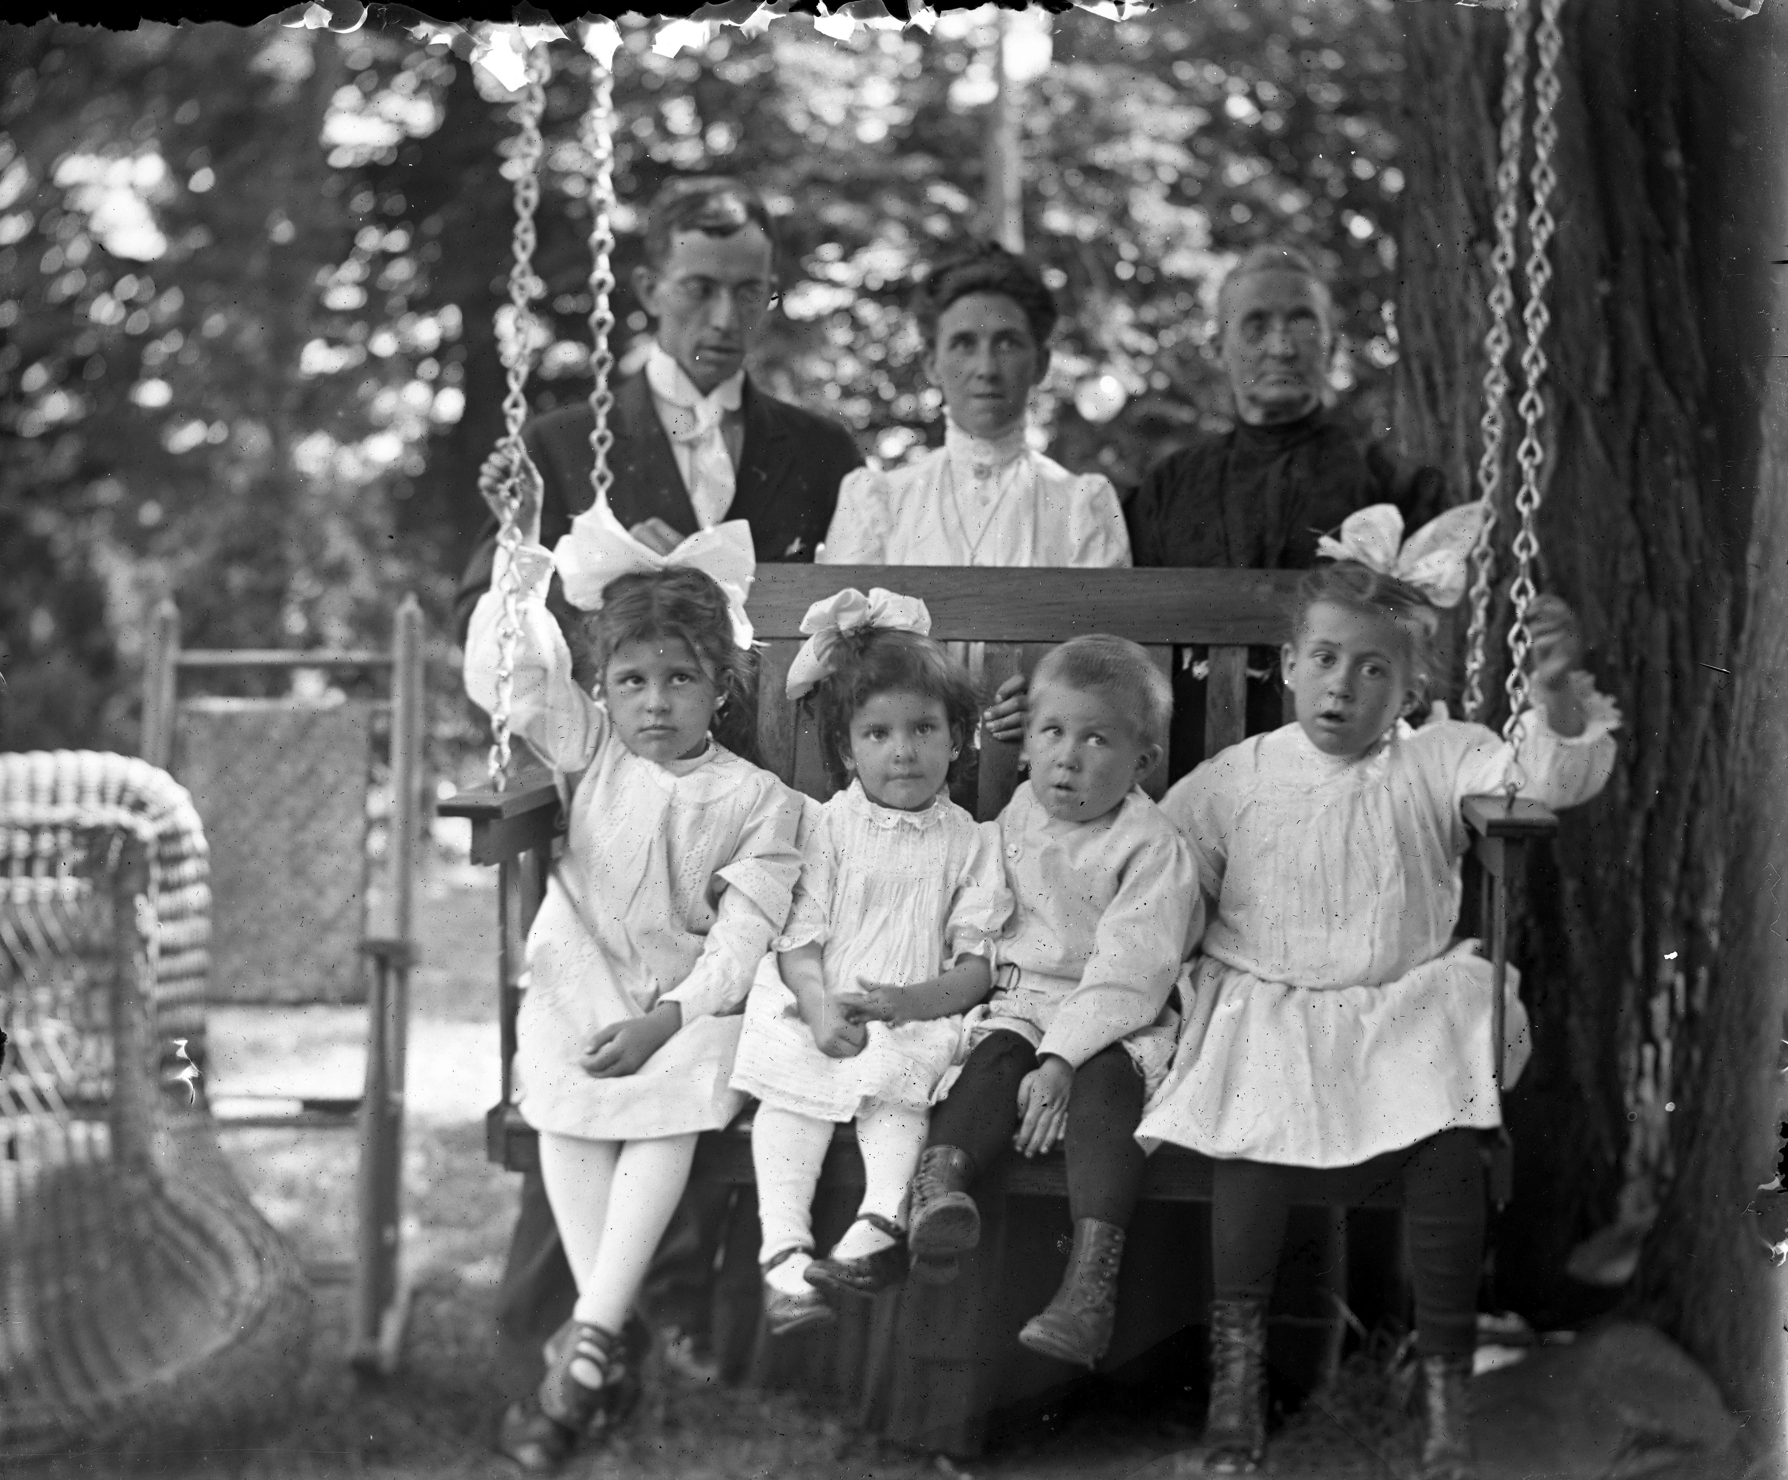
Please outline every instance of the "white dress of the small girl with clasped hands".
[[[856, 781], [824, 806], [808, 806], [806, 862], [772, 951], [821, 946], [828, 992], [858, 978], [930, 981], [960, 956], [991, 954], [991, 937], [1012, 910], [992, 828], [949, 797], [924, 811], [880, 806]], [[855, 1119], [869, 1101], [923, 1110], [960, 1035], [960, 1017], [871, 1022], [862, 1053], [830, 1058], [771, 954], [746, 1001], [733, 1089], [819, 1121]]]

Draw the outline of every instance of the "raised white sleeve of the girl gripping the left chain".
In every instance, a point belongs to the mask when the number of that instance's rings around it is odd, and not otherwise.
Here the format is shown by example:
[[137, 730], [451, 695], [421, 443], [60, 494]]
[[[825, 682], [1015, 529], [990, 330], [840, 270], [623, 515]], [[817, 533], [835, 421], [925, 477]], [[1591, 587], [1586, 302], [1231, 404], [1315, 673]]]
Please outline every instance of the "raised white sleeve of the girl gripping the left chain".
[[[510, 556], [497, 551], [495, 572], [465, 636], [465, 692], [485, 713], [497, 708], [497, 669], [502, 643], [502, 581]], [[510, 695], [510, 733], [520, 735], [560, 772], [590, 765], [608, 735], [608, 715], [570, 676], [570, 649], [552, 613], [547, 611], [547, 586], [552, 583], [552, 556], [538, 545], [515, 552], [520, 583], [517, 608], [520, 633], [515, 638], [513, 690]]]

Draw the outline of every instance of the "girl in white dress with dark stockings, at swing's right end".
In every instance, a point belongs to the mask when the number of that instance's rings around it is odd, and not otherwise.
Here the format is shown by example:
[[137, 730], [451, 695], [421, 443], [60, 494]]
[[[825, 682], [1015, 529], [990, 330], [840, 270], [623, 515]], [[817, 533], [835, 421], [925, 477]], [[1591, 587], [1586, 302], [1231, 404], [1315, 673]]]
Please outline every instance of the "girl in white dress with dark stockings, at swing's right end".
[[[1218, 1158], [1205, 1467], [1255, 1469], [1266, 1442], [1266, 1305], [1293, 1169], [1336, 1201], [1402, 1180], [1427, 1391], [1423, 1475], [1473, 1475], [1464, 1382], [1484, 1244], [1479, 1133], [1500, 1123], [1491, 969], [1454, 944], [1461, 801], [1513, 783], [1575, 806], [1607, 781], [1613, 704], [1575, 669], [1570, 610], [1534, 602], [1534, 708], [1513, 744], [1404, 715], [1434, 676], [1438, 606], [1464, 590], [1475, 506], [1398, 549], [1380, 504], [1348, 518], [1305, 577], [1284, 647], [1296, 724], [1232, 745], [1162, 810], [1210, 908], [1191, 1006], [1137, 1137]], [[1507, 1024], [1525, 1051], [1509, 987]], [[1520, 1062], [1511, 1062], [1518, 1072]], [[1309, 1176], [1309, 1173], [1302, 1173]]]

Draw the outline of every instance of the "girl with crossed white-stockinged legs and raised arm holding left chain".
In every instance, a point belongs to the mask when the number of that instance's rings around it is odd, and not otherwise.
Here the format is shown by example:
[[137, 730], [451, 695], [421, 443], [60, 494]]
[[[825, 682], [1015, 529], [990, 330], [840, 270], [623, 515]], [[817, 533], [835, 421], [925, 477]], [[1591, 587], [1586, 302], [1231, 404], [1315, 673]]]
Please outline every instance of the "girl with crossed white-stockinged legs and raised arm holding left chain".
[[[620, 1332], [688, 1180], [696, 1137], [744, 1105], [728, 1087], [751, 976], [799, 878], [799, 799], [715, 744], [738, 713], [751, 642], [740, 522], [658, 556], [606, 504], [579, 515], [549, 558], [538, 499], [499, 551], [467, 636], [465, 681], [495, 706], [502, 588], [519, 584], [510, 720], [552, 767], [570, 828], [527, 938], [517, 1022], [519, 1105], [578, 1282], [572, 1319], [547, 1342], [536, 1401], [502, 1448], [551, 1469], [624, 1392]], [[545, 593], [597, 611], [597, 695], [570, 674]]]

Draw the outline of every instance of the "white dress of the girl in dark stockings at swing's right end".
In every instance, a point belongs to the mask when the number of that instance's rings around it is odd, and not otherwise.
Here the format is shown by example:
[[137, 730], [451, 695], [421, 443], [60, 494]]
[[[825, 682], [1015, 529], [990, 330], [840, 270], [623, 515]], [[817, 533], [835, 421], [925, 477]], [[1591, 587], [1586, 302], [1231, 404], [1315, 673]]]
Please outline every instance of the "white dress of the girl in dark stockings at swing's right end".
[[[1582, 735], [1523, 719], [1522, 795], [1575, 806], [1606, 785], [1618, 715], [1588, 697]], [[1502, 792], [1516, 747], [1479, 724], [1398, 722], [1337, 760], [1287, 724], [1173, 786], [1162, 810], [1198, 854], [1212, 921], [1144, 1146], [1341, 1167], [1498, 1124], [1491, 969], [1452, 933], [1459, 803]], [[1527, 1058], [1513, 972], [1505, 999], [1513, 1081]]]

